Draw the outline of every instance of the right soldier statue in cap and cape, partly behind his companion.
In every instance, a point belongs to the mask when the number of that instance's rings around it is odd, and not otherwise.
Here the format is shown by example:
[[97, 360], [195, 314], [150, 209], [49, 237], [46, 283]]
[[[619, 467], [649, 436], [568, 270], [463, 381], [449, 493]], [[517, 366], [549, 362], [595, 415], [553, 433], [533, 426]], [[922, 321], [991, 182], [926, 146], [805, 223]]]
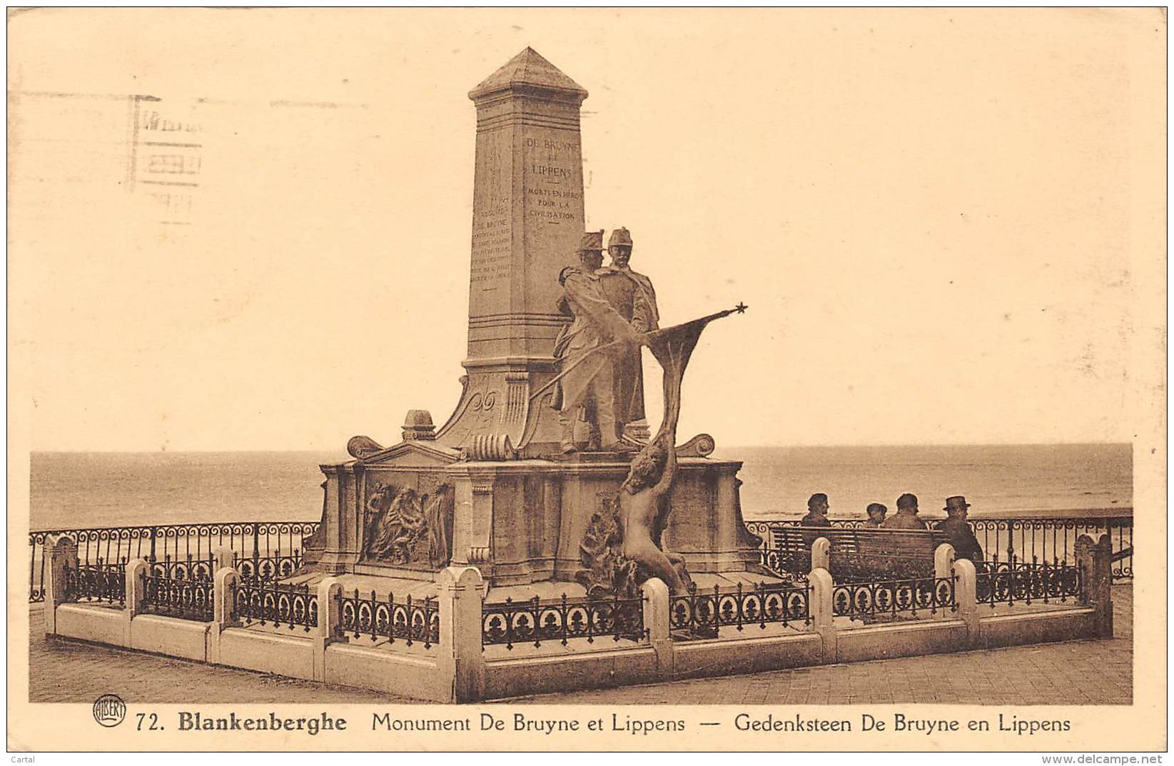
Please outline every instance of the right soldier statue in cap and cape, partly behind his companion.
[[[600, 285], [612, 304], [635, 332], [657, 329], [660, 313], [653, 282], [633, 271], [632, 234], [625, 227], [612, 231], [607, 241], [612, 263], [599, 269]], [[645, 417], [645, 375], [640, 347], [625, 348], [613, 356], [612, 392], [615, 396], [615, 428], [620, 435], [628, 423]]]

